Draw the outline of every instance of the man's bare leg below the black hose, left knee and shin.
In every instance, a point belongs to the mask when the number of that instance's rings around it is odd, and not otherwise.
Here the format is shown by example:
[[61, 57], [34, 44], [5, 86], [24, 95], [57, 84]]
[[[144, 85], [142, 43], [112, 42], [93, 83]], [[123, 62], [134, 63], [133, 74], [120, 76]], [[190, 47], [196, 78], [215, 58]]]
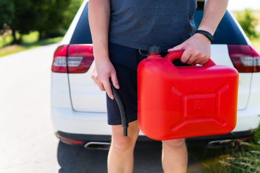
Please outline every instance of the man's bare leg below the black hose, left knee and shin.
[[112, 141], [107, 157], [108, 173], [132, 173], [134, 147], [139, 134], [137, 121], [129, 123], [128, 136], [121, 125], [112, 126]]

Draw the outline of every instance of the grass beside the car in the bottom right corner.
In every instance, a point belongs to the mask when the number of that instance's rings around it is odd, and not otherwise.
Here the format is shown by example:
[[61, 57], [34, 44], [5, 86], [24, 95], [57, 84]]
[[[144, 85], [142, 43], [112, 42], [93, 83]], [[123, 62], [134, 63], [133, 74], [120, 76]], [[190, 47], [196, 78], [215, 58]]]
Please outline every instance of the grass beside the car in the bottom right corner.
[[231, 145], [203, 151], [205, 173], [260, 173], [260, 145], [240, 140]]

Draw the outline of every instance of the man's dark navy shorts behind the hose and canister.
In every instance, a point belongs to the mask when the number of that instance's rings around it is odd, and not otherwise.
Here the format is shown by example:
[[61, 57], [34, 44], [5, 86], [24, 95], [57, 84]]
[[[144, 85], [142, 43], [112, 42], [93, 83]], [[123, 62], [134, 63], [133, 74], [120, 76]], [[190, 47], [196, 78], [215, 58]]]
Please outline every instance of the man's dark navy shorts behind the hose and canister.
[[[142, 51], [147, 54], [147, 51]], [[162, 56], [166, 53], [161, 53]], [[109, 58], [112, 62], [120, 89], [119, 94], [126, 106], [128, 122], [137, 120], [137, 66], [147, 56], [141, 55], [138, 49], [109, 43]], [[183, 65], [180, 61], [175, 65]], [[115, 99], [110, 99], [106, 94], [107, 122], [108, 125], [120, 125], [121, 116]]]

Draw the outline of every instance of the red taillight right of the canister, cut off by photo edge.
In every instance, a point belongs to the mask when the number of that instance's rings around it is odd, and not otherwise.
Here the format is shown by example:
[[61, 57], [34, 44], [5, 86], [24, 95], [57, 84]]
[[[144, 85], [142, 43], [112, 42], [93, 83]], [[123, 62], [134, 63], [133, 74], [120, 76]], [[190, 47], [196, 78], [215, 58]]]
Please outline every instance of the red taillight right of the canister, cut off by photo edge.
[[260, 54], [250, 45], [228, 45], [234, 67], [241, 73], [260, 72]]

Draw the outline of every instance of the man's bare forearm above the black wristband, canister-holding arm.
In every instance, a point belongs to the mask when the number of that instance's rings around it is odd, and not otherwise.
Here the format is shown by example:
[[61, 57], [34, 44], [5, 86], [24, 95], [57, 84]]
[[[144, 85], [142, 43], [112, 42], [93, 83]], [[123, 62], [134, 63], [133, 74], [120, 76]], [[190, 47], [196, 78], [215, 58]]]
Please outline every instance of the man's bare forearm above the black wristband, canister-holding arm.
[[205, 0], [204, 15], [199, 30], [215, 33], [217, 25], [225, 14], [228, 0]]

